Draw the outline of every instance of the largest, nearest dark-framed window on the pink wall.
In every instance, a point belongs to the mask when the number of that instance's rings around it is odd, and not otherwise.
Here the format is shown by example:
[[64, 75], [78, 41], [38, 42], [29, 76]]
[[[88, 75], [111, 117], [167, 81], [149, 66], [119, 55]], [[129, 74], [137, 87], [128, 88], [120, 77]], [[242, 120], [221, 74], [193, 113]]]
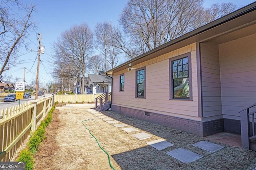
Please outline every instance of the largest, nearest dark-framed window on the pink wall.
[[170, 64], [172, 98], [191, 99], [190, 56], [180, 56], [179, 59], [172, 60]]

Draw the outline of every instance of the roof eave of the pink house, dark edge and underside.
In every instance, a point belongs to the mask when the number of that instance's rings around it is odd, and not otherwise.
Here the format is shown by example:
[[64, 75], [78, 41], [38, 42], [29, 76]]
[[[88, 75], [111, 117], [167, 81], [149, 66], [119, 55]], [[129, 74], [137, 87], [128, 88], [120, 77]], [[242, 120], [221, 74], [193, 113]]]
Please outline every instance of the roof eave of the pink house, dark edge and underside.
[[[232, 20], [235, 20], [241, 16], [244, 16], [250, 12], [255, 12], [255, 11], [256, 11], [256, 2], [253, 2], [247, 6], [244, 6], [243, 8], [240, 8], [240, 9], [222, 17], [222, 18], [214, 20], [206, 25], [203, 25], [202, 27], [199, 27], [199, 28], [197, 28], [193, 31], [190, 31], [176, 39], [173, 39], [172, 41], [169, 41], [168, 43], [160, 45], [159, 47], [156, 47], [155, 49], [152, 49], [142, 55], [139, 55], [138, 57], [135, 57], [134, 59], [131, 59], [123, 64], [120, 64], [119, 66], [116, 66], [115, 68], [112, 68], [111, 70], [104, 72], [104, 74], [113, 75], [113, 72], [118, 72], [120, 70], [126, 69], [135, 64], [158, 57], [159, 55], [166, 53], [166, 51], [170, 51], [170, 49], [175, 49], [178, 47], [189, 45], [189, 44], [195, 43], [197, 41], [206, 39], [208, 37], [214, 36], [214, 34], [216, 35], [220, 32], [225, 32], [228, 29], [233, 29], [235, 27], [238, 27], [238, 25], [250, 23], [250, 20], [255, 20], [256, 18], [247, 17], [246, 18], [247, 20], [245, 18], [242, 18], [242, 19], [240, 19], [240, 22], [237, 24], [233, 24], [233, 25], [230, 24], [228, 26], [224, 25], [225, 23], [228, 23]], [[252, 17], [255, 17], [255, 16], [252, 16]], [[241, 23], [241, 21], [243, 23]], [[222, 28], [219, 28], [219, 30], [218, 30], [218, 27], [220, 27], [220, 25], [224, 25], [224, 26]], [[212, 31], [213, 29], [215, 29], [215, 31]], [[167, 50], [167, 49], [169, 49], [169, 50]], [[146, 57], [146, 59], [144, 59], [145, 57]]]

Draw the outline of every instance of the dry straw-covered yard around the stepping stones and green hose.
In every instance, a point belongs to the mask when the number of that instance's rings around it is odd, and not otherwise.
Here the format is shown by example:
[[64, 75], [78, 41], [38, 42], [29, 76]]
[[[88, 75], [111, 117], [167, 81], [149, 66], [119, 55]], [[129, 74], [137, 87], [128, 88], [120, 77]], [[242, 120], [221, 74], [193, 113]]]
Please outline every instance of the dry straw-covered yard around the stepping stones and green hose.
[[[35, 170], [111, 170], [110, 163], [115, 170], [249, 170], [256, 167], [254, 151], [217, 143], [225, 148], [210, 153], [191, 145], [202, 140], [208, 141], [197, 135], [112, 111], [102, 112], [102, 116], [139, 129], [136, 133], [146, 132], [153, 136], [140, 141], [132, 136], [135, 132], [126, 133], [86, 109], [56, 107], [53, 120], [46, 128], [46, 139], [35, 156]], [[110, 155], [110, 163], [108, 155], [81, 123], [83, 120], [88, 120], [84, 121], [84, 125]], [[146, 144], [156, 139], [164, 139], [174, 146], [158, 151]], [[166, 154], [180, 147], [204, 157], [186, 164]]]

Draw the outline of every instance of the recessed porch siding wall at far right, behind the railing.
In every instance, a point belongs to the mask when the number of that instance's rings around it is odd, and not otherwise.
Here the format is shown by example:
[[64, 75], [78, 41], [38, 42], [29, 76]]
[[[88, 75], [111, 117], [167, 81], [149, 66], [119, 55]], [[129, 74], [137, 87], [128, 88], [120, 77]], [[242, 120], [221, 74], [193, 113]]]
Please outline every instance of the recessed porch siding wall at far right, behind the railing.
[[220, 47], [222, 113], [240, 120], [238, 111], [256, 103], [256, 34]]

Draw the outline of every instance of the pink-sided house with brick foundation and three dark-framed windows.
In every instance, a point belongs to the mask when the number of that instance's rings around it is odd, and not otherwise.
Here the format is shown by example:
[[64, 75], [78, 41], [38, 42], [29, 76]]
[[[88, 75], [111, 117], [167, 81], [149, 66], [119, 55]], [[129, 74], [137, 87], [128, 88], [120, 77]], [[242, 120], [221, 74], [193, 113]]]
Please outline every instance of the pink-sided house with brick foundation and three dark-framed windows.
[[256, 103], [256, 2], [106, 74], [113, 111], [199, 136], [239, 134], [238, 112]]

